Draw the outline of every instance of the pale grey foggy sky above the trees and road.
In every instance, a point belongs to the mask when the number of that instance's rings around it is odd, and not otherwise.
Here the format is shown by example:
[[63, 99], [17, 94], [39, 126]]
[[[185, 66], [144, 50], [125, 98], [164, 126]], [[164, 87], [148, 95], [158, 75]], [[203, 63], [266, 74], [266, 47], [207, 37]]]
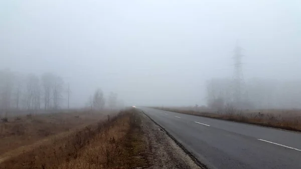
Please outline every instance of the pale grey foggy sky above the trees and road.
[[205, 104], [205, 82], [301, 77], [301, 1], [0, 0], [0, 69], [55, 72], [71, 105], [100, 87], [127, 105]]

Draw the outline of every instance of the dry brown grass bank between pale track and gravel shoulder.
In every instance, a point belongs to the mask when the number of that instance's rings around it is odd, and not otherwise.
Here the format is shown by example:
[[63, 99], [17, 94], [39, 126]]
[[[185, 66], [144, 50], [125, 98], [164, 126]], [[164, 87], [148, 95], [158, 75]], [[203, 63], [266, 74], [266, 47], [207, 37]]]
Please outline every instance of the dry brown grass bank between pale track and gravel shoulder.
[[121, 112], [68, 136], [53, 139], [0, 164], [0, 168], [134, 168], [143, 141], [134, 110]]

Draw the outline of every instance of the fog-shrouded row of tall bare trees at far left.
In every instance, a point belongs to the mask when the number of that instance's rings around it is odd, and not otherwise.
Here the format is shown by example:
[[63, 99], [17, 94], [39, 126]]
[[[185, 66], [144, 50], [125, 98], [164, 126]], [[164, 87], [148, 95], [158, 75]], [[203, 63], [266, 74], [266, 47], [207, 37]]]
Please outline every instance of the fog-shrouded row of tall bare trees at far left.
[[64, 80], [54, 73], [42, 75], [0, 70], [0, 111], [59, 109]]

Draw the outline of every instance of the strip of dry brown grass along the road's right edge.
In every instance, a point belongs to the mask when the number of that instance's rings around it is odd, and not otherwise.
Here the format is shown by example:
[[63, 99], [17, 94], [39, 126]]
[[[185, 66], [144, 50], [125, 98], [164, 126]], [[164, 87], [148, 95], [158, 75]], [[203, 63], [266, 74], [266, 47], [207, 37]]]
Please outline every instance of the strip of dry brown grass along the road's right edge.
[[300, 110], [245, 110], [238, 111], [233, 107], [226, 107], [225, 113], [199, 112], [177, 108], [157, 109], [173, 111], [196, 116], [250, 123], [267, 127], [275, 127], [293, 131], [301, 131]]

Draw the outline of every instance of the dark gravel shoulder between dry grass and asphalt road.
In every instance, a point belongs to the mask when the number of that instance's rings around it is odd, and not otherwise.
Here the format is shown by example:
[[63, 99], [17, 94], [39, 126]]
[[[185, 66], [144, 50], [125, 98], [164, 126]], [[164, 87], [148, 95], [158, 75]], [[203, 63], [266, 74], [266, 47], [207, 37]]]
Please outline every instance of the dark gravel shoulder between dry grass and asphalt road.
[[[193, 160], [168, 134], [145, 114], [139, 114], [148, 161], [157, 168], [206, 168]], [[198, 164], [197, 164], [198, 163]]]

